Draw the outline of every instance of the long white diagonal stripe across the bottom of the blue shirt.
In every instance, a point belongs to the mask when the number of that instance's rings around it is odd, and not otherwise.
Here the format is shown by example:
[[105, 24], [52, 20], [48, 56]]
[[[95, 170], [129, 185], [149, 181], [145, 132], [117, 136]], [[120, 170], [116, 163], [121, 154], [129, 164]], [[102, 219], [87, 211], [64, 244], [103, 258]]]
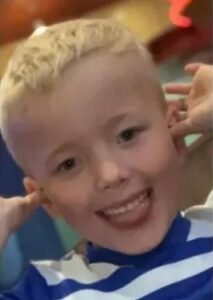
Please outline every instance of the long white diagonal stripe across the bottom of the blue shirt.
[[81, 290], [59, 300], [135, 300], [213, 267], [213, 252], [158, 267], [115, 292]]

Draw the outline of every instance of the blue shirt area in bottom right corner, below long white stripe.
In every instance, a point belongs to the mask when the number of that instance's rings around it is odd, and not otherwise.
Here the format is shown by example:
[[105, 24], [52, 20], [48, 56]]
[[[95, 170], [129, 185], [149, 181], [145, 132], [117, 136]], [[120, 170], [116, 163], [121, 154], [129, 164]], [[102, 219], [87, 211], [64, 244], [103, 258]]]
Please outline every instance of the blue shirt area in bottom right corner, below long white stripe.
[[[141, 300], [212, 300], [213, 268], [155, 291]], [[153, 282], [154, 284], [154, 282]]]

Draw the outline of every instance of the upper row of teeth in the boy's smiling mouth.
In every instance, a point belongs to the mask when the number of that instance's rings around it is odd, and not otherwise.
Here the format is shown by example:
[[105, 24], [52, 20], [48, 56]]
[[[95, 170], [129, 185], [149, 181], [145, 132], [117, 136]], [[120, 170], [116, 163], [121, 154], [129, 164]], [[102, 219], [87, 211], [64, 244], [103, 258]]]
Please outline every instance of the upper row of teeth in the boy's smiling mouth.
[[129, 212], [133, 209], [135, 209], [137, 206], [145, 203], [145, 200], [147, 199], [147, 193], [141, 194], [137, 199], [135, 199], [132, 202], [129, 202], [123, 206], [117, 207], [117, 208], [108, 208], [104, 211], [105, 215], [112, 216], [112, 215], [120, 215], [124, 214], [126, 212]]

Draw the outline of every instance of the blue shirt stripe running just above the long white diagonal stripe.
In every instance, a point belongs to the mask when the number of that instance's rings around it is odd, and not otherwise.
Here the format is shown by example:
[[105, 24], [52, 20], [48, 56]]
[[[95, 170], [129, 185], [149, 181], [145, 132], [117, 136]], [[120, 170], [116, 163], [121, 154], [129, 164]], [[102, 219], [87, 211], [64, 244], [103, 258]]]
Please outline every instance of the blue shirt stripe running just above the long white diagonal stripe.
[[[168, 264], [168, 262], [180, 261], [182, 259], [192, 257], [193, 255], [207, 253], [212, 250], [212, 241], [212, 238], [202, 238], [185, 243], [185, 247], [172, 247], [168, 249], [168, 251], [166, 251], [166, 255], [163, 260], [165, 260], [166, 264]], [[159, 256], [155, 258], [154, 264], [160, 266]], [[161, 265], [163, 265], [163, 263]], [[67, 279], [63, 280], [58, 285], [47, 286], [44, 278], [33, 266], [31, 266], [28, 276], [26, 277], [24, 282], [16, 286], [16, 288], [13, 289], [11, 293], [5, 295], [8, 297], [16, 295], [17, 299], [22, 300], [49, 300], [63, 298], [76, 291], [84, 289], [111, 292], [124, 287], [128, 283], [135, 280], [137, 277], [152, 269], [154, 269], [153, 262], [149, 261], [144, 268], [121, 267], [116, 270], [109, 278], [100, 280], [99, 282], [93, 284], [81, 284], [74, 280]]]

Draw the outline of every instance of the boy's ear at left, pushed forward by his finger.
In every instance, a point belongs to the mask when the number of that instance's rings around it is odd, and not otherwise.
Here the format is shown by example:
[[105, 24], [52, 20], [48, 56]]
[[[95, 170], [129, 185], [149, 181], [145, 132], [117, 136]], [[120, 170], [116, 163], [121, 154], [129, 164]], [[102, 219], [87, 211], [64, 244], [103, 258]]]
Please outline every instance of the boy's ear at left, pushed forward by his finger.
[[25, 177], [23, 180], [25, 190], [28, 194], [33, 192], [39, 192], [42, 197], [42, 207], [48, 213], [48, 215], [54, 219], [60, 218], [60, 213], [52, 200], [47, 197], [45, 190], [34, 179]]

